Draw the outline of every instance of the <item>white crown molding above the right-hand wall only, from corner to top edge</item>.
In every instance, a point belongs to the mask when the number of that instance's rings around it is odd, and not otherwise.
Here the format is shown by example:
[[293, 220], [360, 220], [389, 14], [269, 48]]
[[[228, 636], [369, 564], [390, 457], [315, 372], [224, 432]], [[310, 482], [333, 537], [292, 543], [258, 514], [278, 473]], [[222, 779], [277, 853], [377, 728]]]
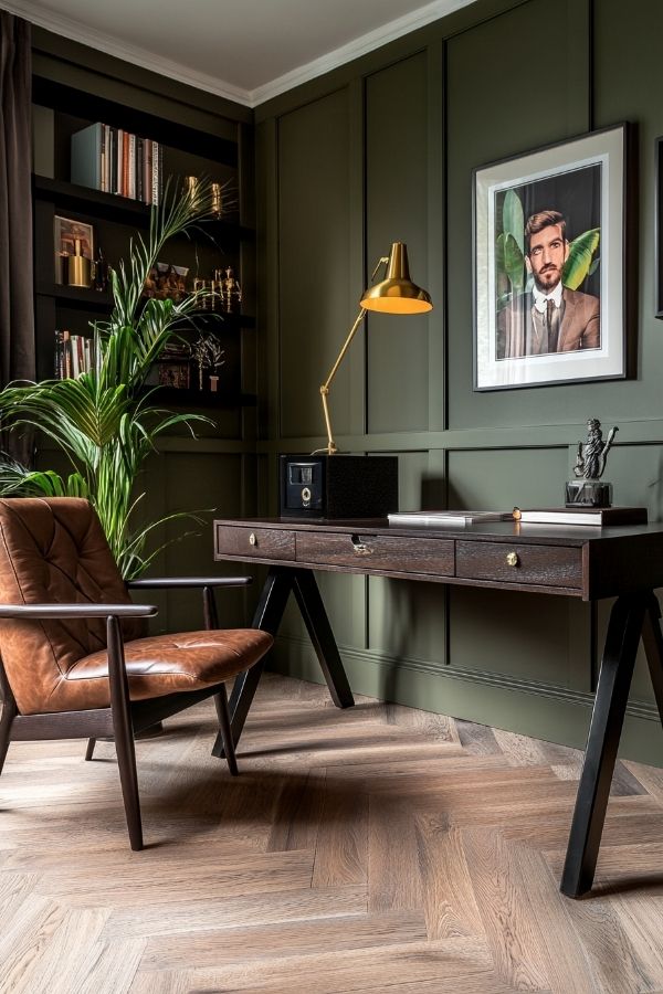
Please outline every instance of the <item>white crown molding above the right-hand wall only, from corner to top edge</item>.
[[425, 7], [420, 7], [418, 10], [398, 18], [396, 21], [389, 21], [388, 24], [382, 24], [380, 28], [376, 28], [375, 31], [369, 31], [368, 34], [356, 38], [354, 41], [348, 42], [347, 45], [341, 45], [340, 49], [327, 52], [326, 55], [320, 55], [319, 59], [314, 59], [313, 62], [307, 62], [305, 65], [301, 65], [296, 70], [278, 76], [276, 80], [272, 80], [271, 83], [265, 83], [264, 86], [257, 86], [255, 89], [250, 91], [250, 106], [257, 107], [259, 104], [264, 104], [265, 101], [270, 101], [281, 93], [294, 89], [295, 86], [299, 86], [302, 83], [308, 83], [309, 80], [314, 80], [316, 76], [322, 76], [330, 70], [338, 68], [339, 65], [351, 62], [352, 59], [359, 59], [360, 55], [366, 55], [367, 52], [372, 52], [375, 49], [379, 49], [397, 38], [402, 38], [403, 34], [411, 34], [418, 28], [424, 28], [432, 21], [439, 21], [462, 7], [469, 7], [471, 3], [474, 3], [474, 0], [433, 0], [432, 3], [427, 3]]

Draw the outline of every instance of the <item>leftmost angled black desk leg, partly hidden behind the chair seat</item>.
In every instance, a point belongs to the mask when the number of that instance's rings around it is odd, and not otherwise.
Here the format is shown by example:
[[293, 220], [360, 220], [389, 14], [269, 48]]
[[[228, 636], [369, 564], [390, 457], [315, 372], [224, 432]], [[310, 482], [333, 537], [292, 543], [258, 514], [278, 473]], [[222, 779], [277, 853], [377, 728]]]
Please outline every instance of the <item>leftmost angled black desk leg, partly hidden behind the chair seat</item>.
[[[270, 568], [267, 579], [265, 580], [251, 623], [253, 628], [262, 628], [263, 632], [270, 632], [271, 635], [276, 634], [290, 592], [293, 588], [292, 574], [293, 570], [282, 569], [281, 567]], [[244, 729], [246, 715], [249, 713], [249, 708], [255, 697], [255, 691], [257, 690], [265, 662], [266, 659], [263, 656], [255, 666], [252, 666], [251, 669], [245, 669], [235, 677], [229, 701], [230, 713], [232, 717], [232, 738], [235, 745], [240, 741], [240, 737]], [[219, 757], [220, 759], [225, 755], [223, 752], [223, 739], [221, 738], [221, 732], [217, 736], [217, 740], [212, 748], [212, 755]]]

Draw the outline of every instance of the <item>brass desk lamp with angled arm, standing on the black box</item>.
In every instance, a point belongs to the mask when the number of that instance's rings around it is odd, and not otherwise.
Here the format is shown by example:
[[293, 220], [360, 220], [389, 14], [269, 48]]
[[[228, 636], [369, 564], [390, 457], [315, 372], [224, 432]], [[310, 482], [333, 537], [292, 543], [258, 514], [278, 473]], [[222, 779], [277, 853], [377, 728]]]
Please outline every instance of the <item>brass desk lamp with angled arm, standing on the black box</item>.
[[338, 452], [332, 432], [332, 421], [329, 419], [329, 385], [350, 347], [350, 342], [352, 341], [359, 325], [366, 316], [366, 311], [376, 310], [380, 314], [423, 314], [427, 310], [432, 310], [433, 305], [429, 294], [410, 279], [408, 248], [404, 242], [394, 242], [391, 246], [389, 256], [383, 255], [378, 261], [370, 277], [371, 283], [381, 265], [387, 266], [387, 275], [381, 283], [369, 286], [361, 297], [361, 300], [359, 302], [360, 309], [355, 319], [355, 324], [350, 328], [350, 332], [338, 353], [336, 362], [329, 371], [329, 376], [320, 387], [325, 426], [327, 429], [327, 447], [316, 450], [316, 452], [326, 452], [327, 455], [334, 455]]

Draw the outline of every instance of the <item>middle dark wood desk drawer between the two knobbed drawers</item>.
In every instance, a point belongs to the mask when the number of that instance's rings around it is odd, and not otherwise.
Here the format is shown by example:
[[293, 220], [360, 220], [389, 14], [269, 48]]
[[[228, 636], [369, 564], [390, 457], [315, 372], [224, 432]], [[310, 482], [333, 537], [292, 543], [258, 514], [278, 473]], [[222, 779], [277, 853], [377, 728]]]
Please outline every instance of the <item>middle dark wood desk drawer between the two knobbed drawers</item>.
[[299, 532], [297, 561], [453, 577], [453, 541], [376, 535]]

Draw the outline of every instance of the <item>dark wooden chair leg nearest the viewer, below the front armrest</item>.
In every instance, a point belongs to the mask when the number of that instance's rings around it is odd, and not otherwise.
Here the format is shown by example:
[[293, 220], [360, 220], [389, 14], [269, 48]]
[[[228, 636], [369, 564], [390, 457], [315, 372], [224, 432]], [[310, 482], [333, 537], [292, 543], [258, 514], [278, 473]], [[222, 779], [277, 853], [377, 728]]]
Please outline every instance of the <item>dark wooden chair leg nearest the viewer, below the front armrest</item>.
[[138, 797], [138, 775], [136, 773], [136, 749], [134, 728], [129, 709], [129, 684], [124, 664], [124, 647], [119, 622], [109, 617], [106, 626], [108, 645], [108, 670], [110, 674], [110, 708], [115, 732], [115, 749], [119, 782], [125, 804], [129, 842], [133, 849], [143, 848], [143, 823]]

